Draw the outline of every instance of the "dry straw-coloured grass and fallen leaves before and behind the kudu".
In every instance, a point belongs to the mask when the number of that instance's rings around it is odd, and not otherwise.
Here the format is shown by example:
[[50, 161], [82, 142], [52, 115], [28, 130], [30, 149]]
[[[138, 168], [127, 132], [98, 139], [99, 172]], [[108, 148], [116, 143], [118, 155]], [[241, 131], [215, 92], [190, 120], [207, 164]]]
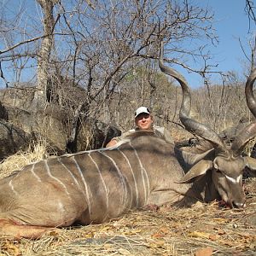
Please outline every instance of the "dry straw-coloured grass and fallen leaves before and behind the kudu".
[[[40, 160], [44, 150], [38, 145], [32, 154], [17, 154], [1, 170], [6, 174]], [[212, 202], [130, 212], [105, 224], [55, 229], [35, 241], [2, 236], [0, 255], [255, 255], [255, 178], [246, 180], [245, 190], [247, 207], [242, 210]]]

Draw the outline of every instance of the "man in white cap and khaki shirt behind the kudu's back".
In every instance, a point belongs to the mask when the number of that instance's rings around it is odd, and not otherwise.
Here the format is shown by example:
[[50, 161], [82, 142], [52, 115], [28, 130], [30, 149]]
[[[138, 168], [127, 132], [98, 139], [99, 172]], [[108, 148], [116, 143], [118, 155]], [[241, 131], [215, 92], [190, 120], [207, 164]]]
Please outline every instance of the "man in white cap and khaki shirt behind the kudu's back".
[[154, 134], [157, 137], [161, 137], [165, 139], [168, 143], [174, 143], [172, 136], [169, 131], [167, 131], [164, 127], [153, 125], [154, 119], [153, 115], [150, 113], [149, 109], [146, 107], [137, 108], [135, 112], [135, 129], [131, 129], [130, 131], [126, 131], [120, 137], [113, 137], [113, 139], [107, 144], [106, 147], [112, 147], [126, 136], [130, 135], [135, 131], [154, 131]]

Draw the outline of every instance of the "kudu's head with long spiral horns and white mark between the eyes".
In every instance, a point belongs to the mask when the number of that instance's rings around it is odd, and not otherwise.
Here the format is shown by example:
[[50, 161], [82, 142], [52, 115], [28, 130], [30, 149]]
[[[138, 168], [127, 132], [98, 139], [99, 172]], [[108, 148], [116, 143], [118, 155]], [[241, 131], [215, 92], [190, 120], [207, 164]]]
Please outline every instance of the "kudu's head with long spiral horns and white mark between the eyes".
[[[164, 66], [163, 44], [160, 49], [160, 70], [172, 76], [181, 85], [183, 100], [180, 108], [179, 118], [185, 129], [195, 136], [201, 137], [212, 144], [207, 154], [212, 155], [205, 160], [206, 154], [194, 158], [194, 166], [187, 172], [179, 183], [190, 183], [195, 177], [212, 172], [212, 183], [217, 189], [222, 200], [230, 207], [245, 207], [245, 194], [242, 188], [242, 172], [246, 166], [256, 169], [256, 160], [250, 157], [242, 157], [241, 153], [247, 142], [256, 136], [256, 123], [245, 127], [236, 137], [230, 147], [226, 146], [223, 139], [212, 131], [207, 125], [203, 125], [190, 116], [191, 95], [189, 86], [183, 76], [170, 67]], [[246, 84], [247, 106], [256, 117], [256, 103], [253, 96], [253, 83], [256, 79], [256, 69], [250, 74]]]

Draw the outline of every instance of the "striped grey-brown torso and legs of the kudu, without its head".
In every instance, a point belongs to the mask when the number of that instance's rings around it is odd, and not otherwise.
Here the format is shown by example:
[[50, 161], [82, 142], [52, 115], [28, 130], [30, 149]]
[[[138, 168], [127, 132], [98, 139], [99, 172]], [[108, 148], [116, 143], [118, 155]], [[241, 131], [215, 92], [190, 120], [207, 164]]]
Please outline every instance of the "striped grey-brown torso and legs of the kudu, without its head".
[[113, 148], [41, 160], [0, 181], [0, 234], [36, 237], [45, 227], [181, 201], [189, 185], [175, 181], [183, 174], [174, 145], [146, 131]]

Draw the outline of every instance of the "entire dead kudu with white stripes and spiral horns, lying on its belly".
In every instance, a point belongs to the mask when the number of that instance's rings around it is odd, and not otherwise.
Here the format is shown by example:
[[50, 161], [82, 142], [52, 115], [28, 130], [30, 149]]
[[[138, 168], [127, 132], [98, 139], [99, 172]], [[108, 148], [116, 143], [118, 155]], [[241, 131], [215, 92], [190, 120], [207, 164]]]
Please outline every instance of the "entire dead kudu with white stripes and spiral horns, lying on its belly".
[[[244, 205], [241, 169], [245, 163], [255, 164], [253, 160], [243, 160], [240, 152], [255, 133], [255, 126], [248, 128], [250, 136], [241, 136], [234, 144], [236, 150], [224, 150], [215, 133], [189, 118], [189, 88], [184, 80], [164, 67], [161, 60], [160, 67], [182, 84], [180, 117], [186, 129], [211, 141], [216, 157], [213, 160], [200, 160], [201, 156], [195, 158], [195, 166], [184, 176], [172, 143], [154, 137], [149, 131], [138, 131], [112, 148], [38, 161], [0, 180], [0, 234], [38, 237], [49, 228], [102, 223], [148, 204], [160, 206], [166, 202], [186, 201], [187, 198], [190, 201], [189, 196], [197, 197], [195, 189], [198, 187], [176, 181], [187, 182], [203, 175], [207, 169], [217, 167], [220, 173], [215, 169], [212, 172], [215, 190], [231, 205]], [[253, 75], [254, 81], [255, 73]], [[248, 82], [249, 87], [253, 81]], [[204, 156], [212, 152], [211, 149]], [[228, 163], [233, 165], [234, 172], [226, 171], [230, 170]], [[234, 188], [239, 191], [234, 191]], [[198, 192], [200, 197], [201, 191]], [[206, 201], [214, 198], [211, 193], [202, 196]]]

